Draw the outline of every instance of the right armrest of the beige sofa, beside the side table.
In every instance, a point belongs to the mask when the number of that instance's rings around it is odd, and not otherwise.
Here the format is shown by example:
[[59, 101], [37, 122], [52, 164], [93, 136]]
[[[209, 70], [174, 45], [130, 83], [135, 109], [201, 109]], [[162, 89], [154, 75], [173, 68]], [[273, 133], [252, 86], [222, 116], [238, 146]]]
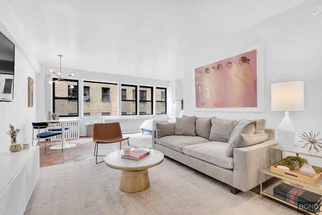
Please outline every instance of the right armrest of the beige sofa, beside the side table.
[[[233, 187], [246, 192], [258, 186], [261, 183], [261, 170], [270, 166], [269, 147], [276, 144], [278, 144], [277, 140], [272, 139], [249, 147], [235, 148], [233, 151]], [[279, 158], [280, 153], [277, 150], [271, 150], [271, 162], [276, 163]]]

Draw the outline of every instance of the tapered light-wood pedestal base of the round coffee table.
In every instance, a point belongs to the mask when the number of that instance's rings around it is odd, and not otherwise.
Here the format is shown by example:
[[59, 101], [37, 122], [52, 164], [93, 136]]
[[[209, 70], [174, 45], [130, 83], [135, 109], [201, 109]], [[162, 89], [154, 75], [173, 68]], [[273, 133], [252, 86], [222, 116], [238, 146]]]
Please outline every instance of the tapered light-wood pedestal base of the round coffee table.
[[150, 186], [147, 169], [128, 171], [122, 170], [120, 190], [126, 193], [137, 193], [146, 190]]

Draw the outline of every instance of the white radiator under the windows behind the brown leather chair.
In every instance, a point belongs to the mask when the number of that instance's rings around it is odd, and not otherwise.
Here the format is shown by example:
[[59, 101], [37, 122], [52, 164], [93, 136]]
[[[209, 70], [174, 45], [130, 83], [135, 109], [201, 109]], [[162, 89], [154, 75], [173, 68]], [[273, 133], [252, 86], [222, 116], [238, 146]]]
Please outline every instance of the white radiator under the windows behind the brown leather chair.
[[119, 118], [119, 119], [103, 119], [104, 123], [119, 122], [122, 133], [140, 132], [141, 124], [150, 117], [137, 117], [137, 118]]

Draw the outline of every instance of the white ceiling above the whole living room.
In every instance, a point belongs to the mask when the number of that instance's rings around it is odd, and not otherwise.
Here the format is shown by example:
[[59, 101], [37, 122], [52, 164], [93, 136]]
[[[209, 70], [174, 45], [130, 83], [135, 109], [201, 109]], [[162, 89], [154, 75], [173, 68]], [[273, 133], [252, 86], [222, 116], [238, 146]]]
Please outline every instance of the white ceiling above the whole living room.
[[183, 55], [306, 0], [7, 0], [44, 65], [159, 80], [183, 78]]

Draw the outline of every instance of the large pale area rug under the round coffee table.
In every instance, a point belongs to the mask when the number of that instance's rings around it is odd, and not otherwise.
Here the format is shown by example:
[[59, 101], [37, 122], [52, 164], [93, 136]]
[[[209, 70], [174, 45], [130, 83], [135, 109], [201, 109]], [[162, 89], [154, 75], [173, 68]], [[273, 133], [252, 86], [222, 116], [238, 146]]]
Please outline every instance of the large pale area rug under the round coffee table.
[[[106, 145], [107, 152], [119, 145]], [[94, 160], [43, 167], [25, 214], [295, 214], [248, 191], [233, 195], [228, 185], [165, 158], [149, 169], [150, 187], [119, 190], [121, 171]]]

